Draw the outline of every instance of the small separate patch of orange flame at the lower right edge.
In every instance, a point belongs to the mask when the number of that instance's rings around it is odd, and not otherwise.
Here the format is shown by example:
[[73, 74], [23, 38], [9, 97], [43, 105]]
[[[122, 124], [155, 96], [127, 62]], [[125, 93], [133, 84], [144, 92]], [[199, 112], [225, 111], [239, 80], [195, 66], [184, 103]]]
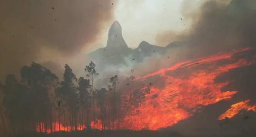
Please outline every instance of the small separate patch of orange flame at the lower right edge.
[[256, 106], [251, 106], [248, 105], [248, 102], [250, 100], [246, 100], [246, 101], [241, 101], [239, 103], [235, 103], [231, 106], [230, 109], [228, 109], [225, 113], [223, 113], [222, 115], [219, 116], [219, 120], [223, 120], [227, 118], [231, 118], [233, 116], [235, 116], [237, 113], [239, 113], [241, 110], [246, 110], [246, 111], [254, 111], [256, 112]]

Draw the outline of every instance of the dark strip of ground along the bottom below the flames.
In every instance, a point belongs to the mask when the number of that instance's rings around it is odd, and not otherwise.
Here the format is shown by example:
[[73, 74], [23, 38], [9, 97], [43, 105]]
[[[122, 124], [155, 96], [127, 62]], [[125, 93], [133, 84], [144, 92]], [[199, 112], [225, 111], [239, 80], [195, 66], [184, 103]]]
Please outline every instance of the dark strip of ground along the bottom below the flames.
[[73, 132], [56, 132], [50, 134], [24, 134], [16, 137], [256, 137], [255, 131], [245, 134], [233, 134], [233, 135], [191, 135], [184, 136], [182, 133], [176, 133], [173, 131], [133, 131], [133, 130], [84, 130]]

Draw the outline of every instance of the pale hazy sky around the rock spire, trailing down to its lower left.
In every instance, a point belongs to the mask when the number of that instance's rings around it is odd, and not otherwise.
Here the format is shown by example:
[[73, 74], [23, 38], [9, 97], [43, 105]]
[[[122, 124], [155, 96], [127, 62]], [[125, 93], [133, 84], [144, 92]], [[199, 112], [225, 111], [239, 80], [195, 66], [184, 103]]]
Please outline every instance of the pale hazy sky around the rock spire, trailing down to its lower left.
[[[86, 53], [106, 46], [107, 33], [114, 21], [122, 26], [124, 41], [130, 48], [137, 48], [140, 42], [147, 41], [153, 45], [166, 46], [169, 42], [156, 41], [157, 36], [165, 32], [181, 32], [189, 27], [189, 20], [183, 17], [182, 7], [187, 0], [120, 0], [114, 4], [113, 18], [104, 24], [104, 29], [95, 42], [71, 57], [59, 57], [60, 66], [69, 64], [77, 75], [82, 75]], [[191, 3], [191, 2], [189, 2]], [[189, 4], [195, 8], [196, 1]], [[188, 7], [187, 7], [188, 8]], [[180, 19], [182, 18], [182, 20]], [[185, 24], [185, 25], [184, 25]], [[170, 38], [168, 38], [170, 40]], [[48, 50], [47, 50], [48, 51]], [[61, 68], [64, 69], [64, 68]]]

